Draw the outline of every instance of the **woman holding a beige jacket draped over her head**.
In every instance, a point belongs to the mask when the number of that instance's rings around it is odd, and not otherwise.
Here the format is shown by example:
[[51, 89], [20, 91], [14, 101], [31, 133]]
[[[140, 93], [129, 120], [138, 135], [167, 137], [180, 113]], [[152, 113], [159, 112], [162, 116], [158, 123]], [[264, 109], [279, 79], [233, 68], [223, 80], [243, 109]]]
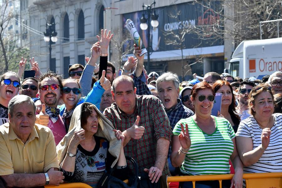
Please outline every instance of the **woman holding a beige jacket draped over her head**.
[[56, 148], [65, 181], [97, 187], [105, 170], [116, 164], [113, 175], [126, 179], [128, 167], [122, 145], [125, 137], [95, 105], [84, 102], [77, 106], [69, 130]]

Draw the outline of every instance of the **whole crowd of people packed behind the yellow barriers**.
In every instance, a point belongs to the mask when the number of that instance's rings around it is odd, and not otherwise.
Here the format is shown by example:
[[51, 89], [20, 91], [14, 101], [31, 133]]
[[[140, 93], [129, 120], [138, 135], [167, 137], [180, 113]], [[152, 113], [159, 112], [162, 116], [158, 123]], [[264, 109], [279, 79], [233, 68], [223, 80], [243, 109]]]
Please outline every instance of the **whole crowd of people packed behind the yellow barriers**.
[[[107, 60], [112, 36], [102, 30], [86, 66], [72, 65], [67, 79], [41, 73], [34, 58], [35, 77], [21, 81], [24, 58], [18, 73], [0, 76], [3, 187], [100, 187], [109, 171], [130, 180], [137, 171], [126, 156], [137, 162], [140, 182], [155, 187], [166, 187], [171, 175], [233, 173], [222, 187], [241, 188], [243, 173], [282, 172], [282, 72], [262, 80], [208, 72], [180, 83], [173, 72], [147, 74], [134, 44], [135, 57], [116, 76]], [[213, 116], [218, 92], [221, 109]], [[196, 187], [219, 185], [197, 181]]]

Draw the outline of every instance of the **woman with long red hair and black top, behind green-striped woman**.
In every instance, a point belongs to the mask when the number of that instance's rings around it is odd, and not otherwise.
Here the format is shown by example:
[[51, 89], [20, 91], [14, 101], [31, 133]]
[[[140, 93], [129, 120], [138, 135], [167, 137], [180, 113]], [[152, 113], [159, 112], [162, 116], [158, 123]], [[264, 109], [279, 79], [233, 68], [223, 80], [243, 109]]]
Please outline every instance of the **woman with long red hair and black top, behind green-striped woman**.
[[236, 113], [235, 96], [232, 86], [228, 81], [218, 80], [213, 84], [214, 92], [222, 93], [221, 114], [231, 124], [234, 132], [237, 132], [240, 117]]

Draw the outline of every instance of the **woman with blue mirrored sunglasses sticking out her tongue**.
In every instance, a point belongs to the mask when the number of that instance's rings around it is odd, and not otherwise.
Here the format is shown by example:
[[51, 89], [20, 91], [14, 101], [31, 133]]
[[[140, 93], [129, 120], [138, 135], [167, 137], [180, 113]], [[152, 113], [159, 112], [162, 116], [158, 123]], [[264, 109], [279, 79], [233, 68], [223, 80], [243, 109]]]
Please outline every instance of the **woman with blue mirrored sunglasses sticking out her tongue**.
[[0, 125], [8, 122], [8, 103], [18, 95], [19, 77], [13, 71], [7, 71], [0, 76]]

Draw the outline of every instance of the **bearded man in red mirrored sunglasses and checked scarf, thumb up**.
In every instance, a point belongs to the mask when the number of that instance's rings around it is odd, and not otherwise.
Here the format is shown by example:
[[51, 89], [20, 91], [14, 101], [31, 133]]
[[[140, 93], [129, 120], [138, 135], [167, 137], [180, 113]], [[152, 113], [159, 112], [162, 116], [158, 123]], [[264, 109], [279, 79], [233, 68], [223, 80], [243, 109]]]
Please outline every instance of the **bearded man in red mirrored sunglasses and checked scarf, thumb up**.
[[57, 108], [63, 88], [62, 77], [47, 70], [46, 73], [39, 77], [38, 85], [42, 110], [36, 115], [36, 123], [51, 129], [57, 145], [66, 135], [66, 128], [60, 116], [60, 109]]

